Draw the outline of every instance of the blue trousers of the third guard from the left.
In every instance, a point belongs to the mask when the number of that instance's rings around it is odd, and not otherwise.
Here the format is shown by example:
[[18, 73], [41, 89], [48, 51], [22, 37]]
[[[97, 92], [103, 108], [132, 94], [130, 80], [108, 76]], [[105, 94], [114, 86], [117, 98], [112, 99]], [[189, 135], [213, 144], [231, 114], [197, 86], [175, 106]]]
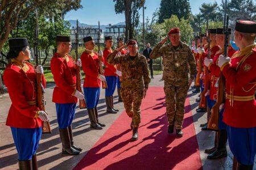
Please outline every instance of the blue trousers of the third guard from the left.
[[97, 87], [84, 87], [84, 97], [88, 109], [97, 107], [98, 100], [100, 99], [100, 88]]

